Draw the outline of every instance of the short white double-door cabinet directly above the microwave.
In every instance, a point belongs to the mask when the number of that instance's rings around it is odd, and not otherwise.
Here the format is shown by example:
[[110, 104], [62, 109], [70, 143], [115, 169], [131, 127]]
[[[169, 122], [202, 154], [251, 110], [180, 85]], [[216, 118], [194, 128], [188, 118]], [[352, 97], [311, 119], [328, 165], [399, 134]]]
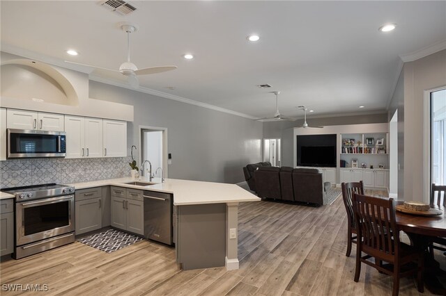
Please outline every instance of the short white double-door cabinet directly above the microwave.
[[38, 131], [64, 131], [62, 114], [25, 110], [7, 110], [8, 129], [33, 129]]

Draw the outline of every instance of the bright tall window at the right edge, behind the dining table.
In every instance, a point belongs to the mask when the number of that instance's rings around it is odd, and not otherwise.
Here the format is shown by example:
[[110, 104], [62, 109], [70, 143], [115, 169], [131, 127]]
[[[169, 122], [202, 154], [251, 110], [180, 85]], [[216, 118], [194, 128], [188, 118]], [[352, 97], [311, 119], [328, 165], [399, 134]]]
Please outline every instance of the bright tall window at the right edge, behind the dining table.
[[431, 183], [446, 185], [446, 89], [431, 92]]

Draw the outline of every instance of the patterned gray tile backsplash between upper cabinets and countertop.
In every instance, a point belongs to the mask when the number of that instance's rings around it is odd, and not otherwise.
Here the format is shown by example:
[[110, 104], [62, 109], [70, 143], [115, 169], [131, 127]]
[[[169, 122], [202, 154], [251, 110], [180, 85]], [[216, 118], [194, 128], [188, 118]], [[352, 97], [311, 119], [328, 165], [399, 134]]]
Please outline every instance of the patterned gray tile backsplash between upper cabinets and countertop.
[[130, 176], [130, 156], [119, 158], [29, 158], [0, 161], [0, 188], [77, 183]]

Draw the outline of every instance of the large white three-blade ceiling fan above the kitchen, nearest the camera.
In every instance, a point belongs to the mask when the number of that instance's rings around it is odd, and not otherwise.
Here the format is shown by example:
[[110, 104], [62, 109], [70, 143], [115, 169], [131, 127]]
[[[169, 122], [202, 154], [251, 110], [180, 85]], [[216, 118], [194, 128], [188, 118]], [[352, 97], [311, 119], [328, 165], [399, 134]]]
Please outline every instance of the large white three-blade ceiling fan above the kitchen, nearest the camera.
[[95, 67], [92, 65], [85, 65], [85, 64], [81, 64], [81, 63], [74, 63], [74, 62], [70, 62], [68, 60], [66, 60], [66, 62], [75, 64], [75, 65], [93, 67], [96, 69], [105, 70], [105, 71], [114, 72], [114, 73], [120, 72], [121, 74], [123, 74], [123, 76], [126, 76], [128, 78], [128, 83], [130, 83], [130, 85], [132, 85], [133, 87], [137, 87], [139, 85], [137, 75], [156, 74], [156, 73], [166, 72], [166, 71], [170, 71], [170, 70], [177, 68], [176, 66], [160, 66], [160, 67], [148, 67], [148, 68], [138, 69], [137, 66], [134, 65], [134, 63], [130, 62], [130, 33], [136, 32], [138, 29], [138, 26], [136, 24], [131, 24], [128, 22], [123, 22], [120, 24], [120, 26], [121, 26], [121, 29], [125, 33], [127, 33], [127, 61], [122, 63], [121, 66], [119, 66], [118, 70], [106, 69], [106, 68], [102, 68], [102, 67]]

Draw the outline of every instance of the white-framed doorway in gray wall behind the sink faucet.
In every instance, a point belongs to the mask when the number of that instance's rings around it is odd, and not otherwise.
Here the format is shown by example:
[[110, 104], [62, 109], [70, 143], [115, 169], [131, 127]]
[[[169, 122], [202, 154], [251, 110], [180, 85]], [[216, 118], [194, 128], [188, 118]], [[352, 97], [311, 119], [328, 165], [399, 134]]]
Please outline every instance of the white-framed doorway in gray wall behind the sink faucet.
[[[155, 177], [167, 178], [167, 128], [156, 126], [139, 126], [139, 142], [141, 147], [140, 160], [150, 161], [152, 164], [152, 174]], [[140, 164], [141, 164], [140, 163]], [[161, 170], [158, 168], [161, 167]], [[149, 166], [139, 167], [142, 175], [146, 175]], [[158, 170], [158, 171], [157, 171]]]

